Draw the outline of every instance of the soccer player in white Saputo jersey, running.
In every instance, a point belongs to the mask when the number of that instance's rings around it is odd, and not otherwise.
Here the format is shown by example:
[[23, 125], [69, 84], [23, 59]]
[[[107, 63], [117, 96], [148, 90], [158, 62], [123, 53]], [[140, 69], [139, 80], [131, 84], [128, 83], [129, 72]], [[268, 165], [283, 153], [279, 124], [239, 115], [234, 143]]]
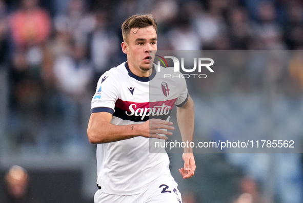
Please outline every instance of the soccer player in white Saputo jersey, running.
[[[164, 79], [152, 65], [151, 52], [157, 50], [157, 23], [153, 16], [129, 17], [122, 25], [122, 35], [127, 62], [100, 77], [92, 99], [87, 133], [89, 141], [97, 144], [99, 190], [94, 201], [180, 203], [168, 155], [149, 153], [149, 139], [164, 141], [172, 135], [167, 131], [174, 130], [168, 119], [176, 105], [182, 139], [191, 142], [193, 101], [185, 79]], [[159, 93], [155, 97], [150, 96], [150, 82]], [[190, 178], [196, 168], [190, 147], [184, 148], [183, 160], [184, 168], [179, 172], [183, 178]]]

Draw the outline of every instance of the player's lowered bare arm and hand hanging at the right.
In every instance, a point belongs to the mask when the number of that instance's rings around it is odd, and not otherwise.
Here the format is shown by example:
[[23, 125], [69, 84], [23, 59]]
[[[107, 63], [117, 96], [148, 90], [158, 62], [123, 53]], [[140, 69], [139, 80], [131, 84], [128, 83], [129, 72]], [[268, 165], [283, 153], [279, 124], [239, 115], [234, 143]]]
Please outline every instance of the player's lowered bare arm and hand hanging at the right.
[[[183, 142], [192, 142], [194, 135], [194, 102], [189, 96], [188, 101], [182, 106], [177, 107], [177, 121]], [[191, 147], [184, 148], [183, 154], [184, 168], [179, 169], [183, 178], [190, 178], [194, 175], [196, 164]]]

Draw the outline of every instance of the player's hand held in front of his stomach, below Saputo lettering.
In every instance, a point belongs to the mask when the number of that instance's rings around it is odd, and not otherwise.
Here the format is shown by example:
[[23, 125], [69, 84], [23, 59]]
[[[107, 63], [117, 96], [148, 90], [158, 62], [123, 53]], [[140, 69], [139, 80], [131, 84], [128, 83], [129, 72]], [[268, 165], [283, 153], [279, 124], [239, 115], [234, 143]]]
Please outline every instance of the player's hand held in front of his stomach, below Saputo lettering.
[[[165, 121], [161, 119], [150, 119], [142, 124], [134, 125], [137, 131], [140, 132], [142, 137], [158, 138], [158, 139], [168, 139], [163, 135], [172, 135], [172, 132], [165, 130], [174, 130], [175, 128], [171, 126], [173, 123], [170, 121]], [[165, 130], [164, 130], [165, 129]], [[163, 134], [163, 135], [159, 135]]]

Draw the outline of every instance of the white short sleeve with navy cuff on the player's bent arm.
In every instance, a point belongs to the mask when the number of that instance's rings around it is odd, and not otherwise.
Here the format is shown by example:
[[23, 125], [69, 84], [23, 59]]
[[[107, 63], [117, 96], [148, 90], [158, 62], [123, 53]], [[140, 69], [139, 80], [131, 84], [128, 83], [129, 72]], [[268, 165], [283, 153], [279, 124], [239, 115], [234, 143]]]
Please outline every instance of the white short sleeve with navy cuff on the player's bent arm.
[[108, 72], [100, 77], [91, 102], [91, 113], [108, 112], [114, 114], [115, 102], [119, 95], [117, 85], [114, 77]]

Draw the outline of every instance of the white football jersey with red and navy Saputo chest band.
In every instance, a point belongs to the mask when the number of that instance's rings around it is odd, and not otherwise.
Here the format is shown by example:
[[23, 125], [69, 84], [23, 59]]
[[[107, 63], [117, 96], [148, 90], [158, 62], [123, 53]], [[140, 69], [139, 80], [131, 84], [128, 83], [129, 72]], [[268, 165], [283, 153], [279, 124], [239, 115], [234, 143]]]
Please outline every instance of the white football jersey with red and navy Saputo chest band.
[[[110, 123], [138, 124], [149, 118], [169, 120], [174, 105], [188, 99], [183, 78], [164, 78], [172, 68], [153, 68], [150, 77], [134, 75], [127, 62], [111, 68], [100, 77], [92, 99], [91, 113], [109, 112]], [[138, 194], [147, 185], [165, 176], [172, 178], [166, 153], [150, 153], [149, 138], [97, 144], [97, 184], [105, 193]]]

